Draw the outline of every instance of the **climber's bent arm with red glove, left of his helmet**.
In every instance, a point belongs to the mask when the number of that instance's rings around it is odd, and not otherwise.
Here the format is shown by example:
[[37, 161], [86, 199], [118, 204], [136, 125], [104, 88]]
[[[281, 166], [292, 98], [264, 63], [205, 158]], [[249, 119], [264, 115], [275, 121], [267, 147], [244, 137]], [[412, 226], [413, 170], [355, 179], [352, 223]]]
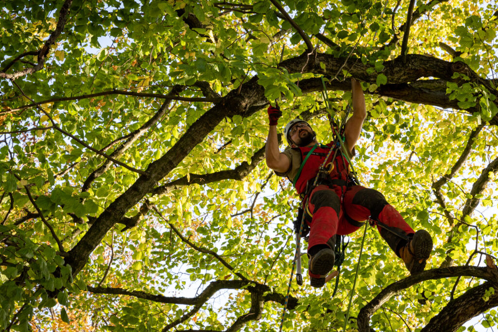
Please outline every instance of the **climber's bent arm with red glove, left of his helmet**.
[[268, 118], [270, 119], [270, 128], [268, 130], [268, 139], [266, 140], [265, 155], [266, 165], [274, 171], [284, 173], [289, 169], [290, 161], [286, 155], [278, 150], [277, 122], [282, 112], [272, 106], [268, 108]]

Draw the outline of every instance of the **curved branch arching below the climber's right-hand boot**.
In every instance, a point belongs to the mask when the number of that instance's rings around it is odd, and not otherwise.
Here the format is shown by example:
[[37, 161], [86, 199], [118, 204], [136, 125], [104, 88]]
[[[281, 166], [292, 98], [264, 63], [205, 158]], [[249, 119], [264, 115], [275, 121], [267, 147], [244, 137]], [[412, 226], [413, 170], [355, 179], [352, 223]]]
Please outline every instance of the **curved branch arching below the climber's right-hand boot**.
[[442, 279], [458, 276], [476, 277], [498, 283], [498, 269], [477, 266], [454, 266], [423, 271], [417, 275], [409, 276], [385, 287], [372, 301], [367, 303], [358, 314], [358, 330], [370, 332], [370, 317], [391, 297], [401, 290], [432, 279]]

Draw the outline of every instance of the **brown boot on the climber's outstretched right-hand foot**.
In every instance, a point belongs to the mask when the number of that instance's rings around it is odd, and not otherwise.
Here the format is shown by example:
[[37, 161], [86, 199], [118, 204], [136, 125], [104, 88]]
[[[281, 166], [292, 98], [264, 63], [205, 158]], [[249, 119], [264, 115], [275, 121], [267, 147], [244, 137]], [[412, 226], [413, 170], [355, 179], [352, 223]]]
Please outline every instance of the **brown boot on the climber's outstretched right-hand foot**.
[[415, 232], [411, 240], [399, 249], [399, 256], [403, 260], [411, 275], [424, 270], [426, 260], [432, 251], [432, 237], [425, 229]]

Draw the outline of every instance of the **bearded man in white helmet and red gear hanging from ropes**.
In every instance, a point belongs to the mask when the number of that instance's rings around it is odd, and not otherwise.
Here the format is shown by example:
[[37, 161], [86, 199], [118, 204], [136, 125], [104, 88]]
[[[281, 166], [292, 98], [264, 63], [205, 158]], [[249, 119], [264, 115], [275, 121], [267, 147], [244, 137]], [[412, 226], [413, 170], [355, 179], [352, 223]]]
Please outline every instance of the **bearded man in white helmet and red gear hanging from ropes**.
[[[351, 85], [353, 115], [344, 129], [345, 146], [350, 157], [355, 155], [354, 147], [367, 116], [360, 82], [351, 79]], [[339, 150], [339, 147], [333, 141], [327, 145], [319, 144], [306, 121], [293, 119], [285, 126], [284, 135], [290, 147], [280, 153], [276, 125], [281, 115], [280, 110], [271, 106], [268, 108], [270, 126], [266, 165], [294, 184], [303, 200], [303, 208], [308, 203], [304, 214], [310, 227], [308, 273], [311, 286], [322, 287], [334, 266], [336, 234], [353, 233], [364, 224], [361, 221], [366, 220], [374, 224], [378, 222], [380, 235], [403, 260], [411, 274], [423, 271], [432, 251], [431, 235], [424, 229], [415, 232], [381, 193], [354, 183], [349, 174], [349, 164], [340, 151], [330, 153], [327, 163], [324, 163], [329, 150]], [[317, 185], [311, 188], [322, 164], [327, 165], [328, 174], [321, 176]]]

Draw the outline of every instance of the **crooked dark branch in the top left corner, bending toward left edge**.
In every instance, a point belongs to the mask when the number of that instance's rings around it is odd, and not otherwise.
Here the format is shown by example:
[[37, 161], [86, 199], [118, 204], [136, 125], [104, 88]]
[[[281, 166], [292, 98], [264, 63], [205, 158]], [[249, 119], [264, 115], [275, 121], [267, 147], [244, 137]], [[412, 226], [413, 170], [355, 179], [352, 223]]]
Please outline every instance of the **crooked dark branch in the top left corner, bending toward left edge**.
[[[57, 26], [55, 27], [55, 30], [52, 31], [52, 33], [50, 34], [48, 39], [45, 41], [45, 44], [43, 44], [41, 49], [37, 52], [38, 63], [34, 67], [26, 68], [24, 70], [15, 72], [13, 74], [6, 74], [4, 72], [0, 72], [0, 78], [14, 80], [18, 77], [34, 73], [34, 72], [43, 68], [43, 65], [45, 64], [46, 57], [48, 55], [48, 52], [50, 51], [50, 47], [55, 43], [55, 40], [62, 33], [62, 30], [64, 30], [64, 26], [66, 25], [67, 15], [69, 13], [69, 7], [71, 6], [71, 3], [73, 3], [73, 0], [66, 0], [62, 4], [61, 10], [59, 12], [59, 19], [57, 21]], [[30, 53], [30, 52], [27, 52], [27, 53]], [[24, 54], [27, 55], [26, 53], [24, 53]], [[21, 55], [23, 55], [23, 54], [21, 54]], [[20, 58], [20, 56], [18, 56], [17, 58]], [[7, 67], [7, 69], [8, 69], [8, 67]]]

